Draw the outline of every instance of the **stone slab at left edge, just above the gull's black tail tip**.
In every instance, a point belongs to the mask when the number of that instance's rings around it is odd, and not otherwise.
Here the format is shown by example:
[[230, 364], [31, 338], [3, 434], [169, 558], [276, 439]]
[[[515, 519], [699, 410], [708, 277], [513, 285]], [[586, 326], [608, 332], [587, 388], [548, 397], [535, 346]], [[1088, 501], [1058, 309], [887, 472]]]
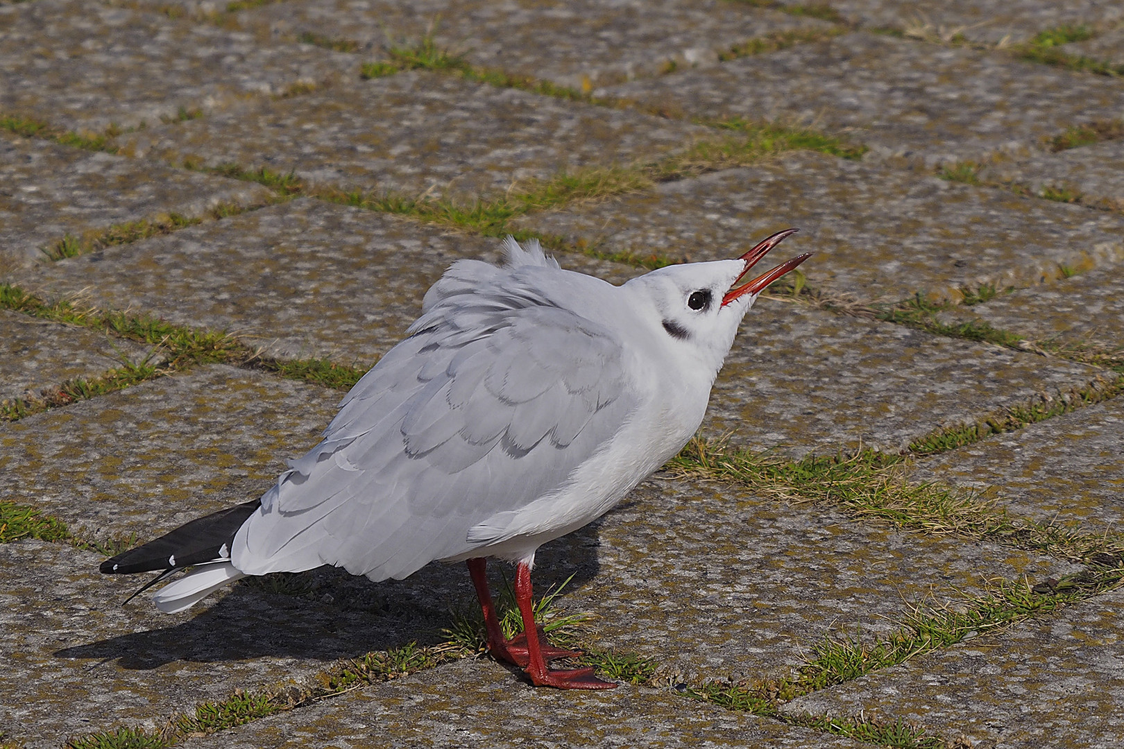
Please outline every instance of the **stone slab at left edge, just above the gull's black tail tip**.
[[0, 424], [0, 500], [97, 537], [142, 538], [260, 496], [343, 393], [227, 366]]

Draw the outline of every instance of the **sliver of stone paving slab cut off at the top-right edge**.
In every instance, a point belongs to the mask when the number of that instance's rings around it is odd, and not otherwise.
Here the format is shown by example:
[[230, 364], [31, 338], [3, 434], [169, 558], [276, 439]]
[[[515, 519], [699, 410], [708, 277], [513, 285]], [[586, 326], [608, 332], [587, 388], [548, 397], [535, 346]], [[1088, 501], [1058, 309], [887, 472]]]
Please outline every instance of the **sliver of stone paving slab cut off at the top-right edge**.
[[[799, 4], [781, 0], [783, 4]], [[832, 0], [846, 20], [870, 28], [892, 28], [913, 34], [951, 38], [960, 34], [973, 42], [1026, 42], [1039, 31], [1058, 26], [1100, 24], [1124, 18], [1112, 2], [1100, 0], [946, 0], [941, 3], [900, 0]]]

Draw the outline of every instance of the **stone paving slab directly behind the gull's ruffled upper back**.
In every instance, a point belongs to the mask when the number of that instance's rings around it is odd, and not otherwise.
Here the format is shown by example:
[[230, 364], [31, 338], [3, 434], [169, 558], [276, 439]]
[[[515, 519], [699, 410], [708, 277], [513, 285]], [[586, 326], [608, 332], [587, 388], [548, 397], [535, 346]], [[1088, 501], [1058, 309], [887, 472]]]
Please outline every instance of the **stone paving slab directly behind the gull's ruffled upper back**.
[[[372, 364], [422, 313], [461, 258], [502, 259], [500, 240], [300, 199], [28, 271], [47, 294], [225, 329], [269, 354]], [[620, 283], [632, 267], [584, 256], [570, 270]]]

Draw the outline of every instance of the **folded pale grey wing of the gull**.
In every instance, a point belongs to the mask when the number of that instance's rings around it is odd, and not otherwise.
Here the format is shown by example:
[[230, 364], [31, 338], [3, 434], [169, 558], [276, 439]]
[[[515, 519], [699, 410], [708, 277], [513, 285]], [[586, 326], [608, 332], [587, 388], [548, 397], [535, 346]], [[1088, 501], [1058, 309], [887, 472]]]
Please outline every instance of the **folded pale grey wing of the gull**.
[[405, 577], [564, 485], [636, 405], [617, 337], [555, 307], [466, 309], [361, 380], [235, 539], [248, 574]]

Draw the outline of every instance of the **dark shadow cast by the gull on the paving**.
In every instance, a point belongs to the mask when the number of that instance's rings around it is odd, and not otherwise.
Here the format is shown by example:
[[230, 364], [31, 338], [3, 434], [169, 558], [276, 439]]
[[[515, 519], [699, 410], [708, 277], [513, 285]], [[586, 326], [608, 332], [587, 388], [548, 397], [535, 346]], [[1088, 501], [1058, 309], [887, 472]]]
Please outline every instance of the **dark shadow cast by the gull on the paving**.
[[[568, 594], [598, 573], [600, 521], [540, 548], [535, 593], [569, 583]], [[514, 577], [505, 563], [489, 564], [493, 596]], [[116, 604], [112, 604], [116, 605]], [[129, 608], [138, 631], [56, 650], [67, 659], [116, 661], [126, 669], [154, 669], [174, 661], [215, 663], [254, 658], [335, 660], [410, 642], [436, 645], [451, 612], [475, 614], [477, 597], [462, 564], [430, 564], [404, 581], [372, 583], [342, 569], [321, 567], [297, 576], [246, 578], [209, 606], [167, 621], [145, 596]], [[198, 613], [194, 613], [197, 612]]]

